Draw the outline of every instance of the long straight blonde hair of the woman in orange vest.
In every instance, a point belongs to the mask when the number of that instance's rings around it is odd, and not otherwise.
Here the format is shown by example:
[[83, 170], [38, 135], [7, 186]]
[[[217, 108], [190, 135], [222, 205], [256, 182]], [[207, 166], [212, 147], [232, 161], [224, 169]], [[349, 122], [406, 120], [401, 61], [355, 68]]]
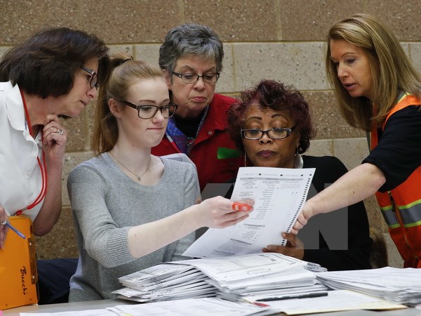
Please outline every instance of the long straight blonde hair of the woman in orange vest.
[[[372, 100], [353, 98], [342, 86], [336, 65], [330, 59], [330, 41], [344, 39], [366, 53], [373, 79]], [[401, 91], [421, 97], [421, 76], [403, 51], [392, 30], [373, 15], [356, 14], [330, 27], [326, 73], [335, 91], [342, 116], [351, 126], [370, 131], [380, 125], [394, 107]], [[373, 114], [373, 104], [376, 113]]]

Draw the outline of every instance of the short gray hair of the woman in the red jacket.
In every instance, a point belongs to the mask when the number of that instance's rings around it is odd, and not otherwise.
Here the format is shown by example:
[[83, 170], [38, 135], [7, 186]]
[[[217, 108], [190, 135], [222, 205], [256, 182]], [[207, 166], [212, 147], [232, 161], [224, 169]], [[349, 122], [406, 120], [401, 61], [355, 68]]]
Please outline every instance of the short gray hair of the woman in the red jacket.
[[222, 41], [210, 27], [187, 23], [171, 29], [159, 48], [159, 67], [171, 73], [178, 58], [189, 54], [215, 60], [216, 72], [222, 71]]

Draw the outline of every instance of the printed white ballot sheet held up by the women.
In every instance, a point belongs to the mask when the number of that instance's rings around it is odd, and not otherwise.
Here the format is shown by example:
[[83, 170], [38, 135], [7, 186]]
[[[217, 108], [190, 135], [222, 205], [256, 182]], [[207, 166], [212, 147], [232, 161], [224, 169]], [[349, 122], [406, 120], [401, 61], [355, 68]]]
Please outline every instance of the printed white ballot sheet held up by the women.
[[241, 167], [231, 200], [255, 201], [241, 223], [210, 228], [183, 254], [196, 258], [255, 254], [268, 244], [285, 246], [281, 232], [290, 232], [307, 198], [316, 169]]

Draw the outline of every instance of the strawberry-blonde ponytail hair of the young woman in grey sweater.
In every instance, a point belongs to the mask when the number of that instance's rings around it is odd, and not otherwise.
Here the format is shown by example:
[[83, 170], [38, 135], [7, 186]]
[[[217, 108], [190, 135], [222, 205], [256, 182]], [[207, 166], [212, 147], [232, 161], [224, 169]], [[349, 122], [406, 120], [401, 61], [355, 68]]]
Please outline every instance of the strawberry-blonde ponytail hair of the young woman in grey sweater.
[[92, 150], [98, 155], [112, 150], [119, 138], [119, 129], [114, 115], [109, 111], [108, 101], [126, 100], [128, 88], [135, 79], [162, 77], [158, 67], [147, 62], [133, 60], [126, 53], [116, 53], [110, 59], [108, 81], [100, 86], [92, 138]]

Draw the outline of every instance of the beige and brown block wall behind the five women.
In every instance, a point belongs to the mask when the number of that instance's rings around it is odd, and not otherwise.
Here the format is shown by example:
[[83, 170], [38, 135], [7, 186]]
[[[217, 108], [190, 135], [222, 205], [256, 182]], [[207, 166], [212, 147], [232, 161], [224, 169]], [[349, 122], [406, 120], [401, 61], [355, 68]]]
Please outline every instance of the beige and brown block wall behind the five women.
[[[388, 22], [421, 70], [419, 0], [32, 0], [1, 1], [0, 55], [43, 27], [72, 27], [93, 32], [111, 48], [157, 65], [168, 29], [199, 22], [215, 29], [225, 44], [224, 71], [217, 91], [238, 96], [260, 79], [293, 84], [308, 100], [318, 134], [309, 154], [335, 155], [351, 169], [368, 153], [364, 133], [340, 117], [324, 71], [324, 41], [330, 25], [353, 13], [371, 13]], [[37, 238], [39, 258], [77, 256], [66, 180], [69, 171], [92, 156], [94, 105], [65, 121], [69, 131], [63, 210], [58, 225]], [[385, 232], [373, 199], [366, 201], [370, 226]], [[389, 243], [389, 248], [394, 246]], [[390, 263], [399, 266], [396, 252]]]

